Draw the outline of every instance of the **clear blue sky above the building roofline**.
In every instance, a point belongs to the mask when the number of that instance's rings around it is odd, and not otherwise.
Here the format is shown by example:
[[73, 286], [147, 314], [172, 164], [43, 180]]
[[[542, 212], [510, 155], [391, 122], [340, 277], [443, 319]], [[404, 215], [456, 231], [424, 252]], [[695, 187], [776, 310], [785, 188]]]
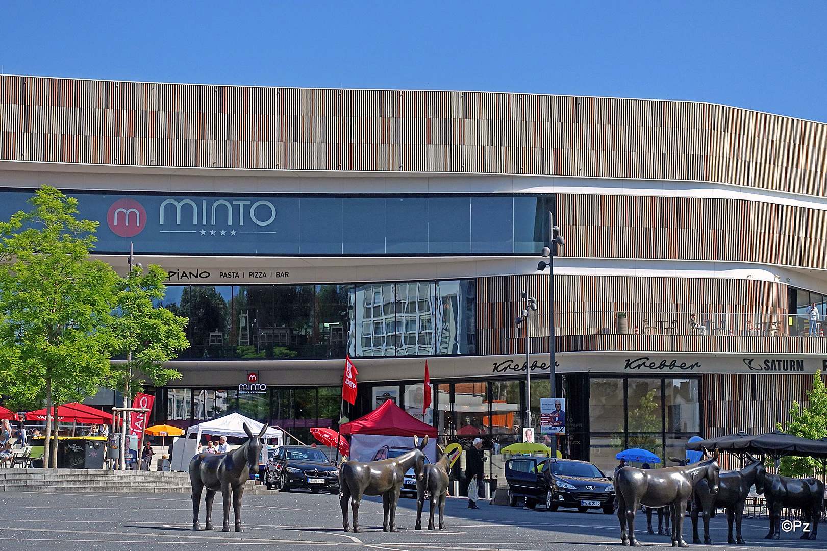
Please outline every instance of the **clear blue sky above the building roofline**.
[[691, 99], [827, 122], [827, 2], [3, 2], [5, 74]]

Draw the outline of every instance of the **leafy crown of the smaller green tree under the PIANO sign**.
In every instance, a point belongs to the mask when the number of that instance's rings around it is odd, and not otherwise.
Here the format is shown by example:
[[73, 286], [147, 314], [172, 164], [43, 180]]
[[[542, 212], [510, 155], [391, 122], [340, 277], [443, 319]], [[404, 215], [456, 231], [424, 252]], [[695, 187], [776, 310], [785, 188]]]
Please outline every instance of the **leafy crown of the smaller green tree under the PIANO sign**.
[[118, 309], [112, 331], [117, 336], [115, 352], [127, 356], [127, 362], [112, 365], [110, 386], [122, 390], [125, 399], [141, 391], [144, 381], [161, 386], [181, 376], [164, 367], [176, 352], [189, 347], [184, 333], [187, 319], [155, 307], [164, 298], [165, 277], [160, 266], [152, 265], [146, 272], [133, 268], [117, 282]]

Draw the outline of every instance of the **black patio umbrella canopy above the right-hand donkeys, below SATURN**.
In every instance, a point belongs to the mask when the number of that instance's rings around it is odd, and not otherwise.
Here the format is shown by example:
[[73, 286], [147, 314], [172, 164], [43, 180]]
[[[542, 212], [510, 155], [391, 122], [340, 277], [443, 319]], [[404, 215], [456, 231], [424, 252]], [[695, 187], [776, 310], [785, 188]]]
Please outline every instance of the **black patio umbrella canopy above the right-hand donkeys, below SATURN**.
[[702, 452], [704, 449], [712, 451], [716, 448], [719, 452], [763, 454], [773, 459], [786, 456], [827, 459], [827, 438], [810, 440], [782, 433], [780, 430], [757, 436], [742, 432], [686, 444], [686, 449], [696, 452]]

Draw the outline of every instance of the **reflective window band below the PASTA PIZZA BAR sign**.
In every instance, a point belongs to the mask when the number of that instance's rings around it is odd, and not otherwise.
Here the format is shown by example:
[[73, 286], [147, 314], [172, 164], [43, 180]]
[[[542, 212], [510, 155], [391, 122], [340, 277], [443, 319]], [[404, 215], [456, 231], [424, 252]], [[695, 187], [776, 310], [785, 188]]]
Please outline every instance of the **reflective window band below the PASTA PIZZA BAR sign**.
[[476, 280], [170, 285], [189, 319], [182, 358], [344, 358], [476, 352]]

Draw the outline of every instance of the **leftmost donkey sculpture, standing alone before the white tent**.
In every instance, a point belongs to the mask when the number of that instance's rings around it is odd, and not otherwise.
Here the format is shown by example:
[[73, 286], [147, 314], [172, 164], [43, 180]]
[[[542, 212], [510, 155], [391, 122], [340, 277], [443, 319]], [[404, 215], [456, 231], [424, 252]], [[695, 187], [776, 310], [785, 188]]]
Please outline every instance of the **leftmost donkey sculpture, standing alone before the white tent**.
[[230, 496], [232, 508], [236, 513], [236, 531], [241, 529], [241, 496], [244, 485], [250, 480], [250, 473], [258, 472], [259, 455], [263, 442], [261, 437], [267, 430], [265, 424], [261, 432], [253, 436], [250, 427], [244, 424], [244, 432], [250, 437], [240, 448], [227, 453], [198, 453], [189, 462], [189, 482], [193, 486], [193, 529], [201, 529], [198, 524], [198, 505], [201, 491], [207, 487], [207, 521], [204, 528], [213, 529], [213, 500], [219, 490], [224, 500], [224, 531], [230, 531]]

